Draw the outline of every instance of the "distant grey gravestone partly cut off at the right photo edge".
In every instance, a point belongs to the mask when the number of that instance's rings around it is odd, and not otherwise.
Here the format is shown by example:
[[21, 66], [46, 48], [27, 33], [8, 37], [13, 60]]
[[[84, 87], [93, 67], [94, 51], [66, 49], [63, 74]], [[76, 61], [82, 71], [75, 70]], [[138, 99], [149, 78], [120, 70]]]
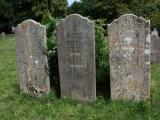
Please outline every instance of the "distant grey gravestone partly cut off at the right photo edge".
[[151, 63], [160, 64], [160, 37], [156, 29], [151, 33]]

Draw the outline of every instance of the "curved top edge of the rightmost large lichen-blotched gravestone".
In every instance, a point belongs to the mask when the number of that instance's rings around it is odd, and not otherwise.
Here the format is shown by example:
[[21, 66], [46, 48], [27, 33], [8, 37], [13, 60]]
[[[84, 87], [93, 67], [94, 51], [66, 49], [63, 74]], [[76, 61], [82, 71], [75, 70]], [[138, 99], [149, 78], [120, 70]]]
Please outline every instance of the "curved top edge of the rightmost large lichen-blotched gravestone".
[[130, 18], [132, 17], [132, 18], [144, 21], [146, 23], [150, 23], [150, 20], [145, 20], [143, 17], [138, 17], [138, 16], [136, 16], [134, 14], [124, 14], [124, 15], [121, 15], [118, 19], [114, 19], [110, 24], [107, 24], [107, 26], [110, 26], [113, 23], [116, 23], [116, 22], [120, 21], [121, 19], [124, 19], [124, 18], [127, 18], [127, 17], [130, 17]]

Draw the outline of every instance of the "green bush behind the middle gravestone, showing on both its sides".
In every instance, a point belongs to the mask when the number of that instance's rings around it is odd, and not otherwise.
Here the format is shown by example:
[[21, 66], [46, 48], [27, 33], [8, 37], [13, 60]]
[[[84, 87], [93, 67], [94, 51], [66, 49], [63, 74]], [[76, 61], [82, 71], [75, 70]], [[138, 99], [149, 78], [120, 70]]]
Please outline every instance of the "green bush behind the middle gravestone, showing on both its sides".
[[[49, 17], [50, 18], [50, 17]], [[48, 21], [48, 20], [46, 20]], [[57, 54], [57, 44], [55, 29], [56, 25], [60, 22], [60, 19], [52, 18], [46, 23], [47, 27], [47, 55], [50, 67], [50, 81], [51, 85], [54, 86], [56, 91], [60, 91], [60, 80], [59, 80], [59, 71], [58, 71], [58, 54]], [[95, 41], [96, 41], [96, 74], [97, 81], [103, 82], [106, 81], [109, 73], [109, 64], [108, 64], [108, 42], [106, 37], [105, 20], [99, 19], [95, 20]], [[109, 79], [108, 79], [109, 80]]]

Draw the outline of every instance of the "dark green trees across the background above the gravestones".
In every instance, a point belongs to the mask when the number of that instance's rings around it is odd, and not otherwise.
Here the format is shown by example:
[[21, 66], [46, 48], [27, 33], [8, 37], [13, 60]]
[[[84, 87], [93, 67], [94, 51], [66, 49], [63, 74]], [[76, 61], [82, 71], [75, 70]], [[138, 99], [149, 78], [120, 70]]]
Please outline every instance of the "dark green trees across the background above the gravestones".
[[152, 28], [160, 31], [160, 0], [80, 0], [68, 6], [67, 0], [0, 0], [0, 33], [10, 32], [25, 19], [42, 22], [49, 12], [55, 18], [79, 13], [92, 19], [106, 19], [110, 23], [125, 13], [133, 13], [151, 20]]

